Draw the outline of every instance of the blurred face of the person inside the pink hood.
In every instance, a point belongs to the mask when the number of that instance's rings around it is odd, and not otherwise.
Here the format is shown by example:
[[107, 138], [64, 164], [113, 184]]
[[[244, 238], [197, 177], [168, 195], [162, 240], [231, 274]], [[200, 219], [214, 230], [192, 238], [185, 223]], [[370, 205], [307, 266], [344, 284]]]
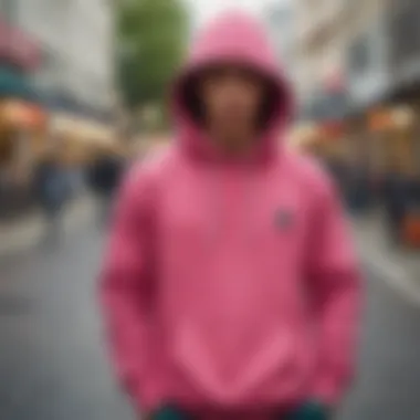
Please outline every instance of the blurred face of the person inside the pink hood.
[[255, 130], [264, 95], [260, 76], [241, 67], [212, 69], [202, 75], [200, 90], [208, 128], [231, 141]]

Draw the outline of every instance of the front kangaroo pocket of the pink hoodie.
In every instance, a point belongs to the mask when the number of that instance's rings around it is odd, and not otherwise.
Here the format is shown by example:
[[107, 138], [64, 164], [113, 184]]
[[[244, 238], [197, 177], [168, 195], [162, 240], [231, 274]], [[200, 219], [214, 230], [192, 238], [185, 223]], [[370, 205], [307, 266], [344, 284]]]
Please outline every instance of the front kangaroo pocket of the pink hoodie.
[[[177, 370], [210, 401], [277, 403], [293, 399], [311, 375], [307, 338], [292, 328], [266, 330], [251, 350], [238, 347], [235, 354], [223, 353], [222, 347], [214, 350], [212, 339], [216, 337], [204, 335], [202, 328], [186, 326], [172, 347]], [[230, 375], [227, 363], [234, 365]]]

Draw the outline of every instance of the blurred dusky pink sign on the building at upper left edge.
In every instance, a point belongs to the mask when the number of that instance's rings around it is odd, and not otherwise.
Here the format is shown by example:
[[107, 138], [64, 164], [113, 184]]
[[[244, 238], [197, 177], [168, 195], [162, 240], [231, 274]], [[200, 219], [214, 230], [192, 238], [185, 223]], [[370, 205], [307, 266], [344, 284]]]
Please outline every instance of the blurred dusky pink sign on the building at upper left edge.
[[0, 59], [23, 69], [32, 69], [40, 62], [40, 48], [23, 31], [0, 18]]

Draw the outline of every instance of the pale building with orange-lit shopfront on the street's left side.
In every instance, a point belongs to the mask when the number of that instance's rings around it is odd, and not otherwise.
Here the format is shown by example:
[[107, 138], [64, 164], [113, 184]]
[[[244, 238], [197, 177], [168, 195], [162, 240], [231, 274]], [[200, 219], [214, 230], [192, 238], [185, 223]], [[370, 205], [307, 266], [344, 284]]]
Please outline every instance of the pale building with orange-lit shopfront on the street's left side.
[[0, 0], [0, 218], [33, 203], [31, 174], [52, 132], [69, 171], [90, 148], [78, 137], [112, 138], [112, 124], [101, 122], [115, 115], [113, 6]]

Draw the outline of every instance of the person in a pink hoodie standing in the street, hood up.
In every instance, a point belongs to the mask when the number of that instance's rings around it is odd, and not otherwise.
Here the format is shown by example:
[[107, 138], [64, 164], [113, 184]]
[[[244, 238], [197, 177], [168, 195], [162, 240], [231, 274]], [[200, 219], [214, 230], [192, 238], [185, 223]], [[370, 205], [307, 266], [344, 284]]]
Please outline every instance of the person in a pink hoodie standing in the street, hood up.
[[349, 386], [358, 264], [333, 182], [284, 145], [292, 107], [258, 22], [219, 17], [175, 141], [124, 182], [101, 301], [146, 418], [323, 420]]

